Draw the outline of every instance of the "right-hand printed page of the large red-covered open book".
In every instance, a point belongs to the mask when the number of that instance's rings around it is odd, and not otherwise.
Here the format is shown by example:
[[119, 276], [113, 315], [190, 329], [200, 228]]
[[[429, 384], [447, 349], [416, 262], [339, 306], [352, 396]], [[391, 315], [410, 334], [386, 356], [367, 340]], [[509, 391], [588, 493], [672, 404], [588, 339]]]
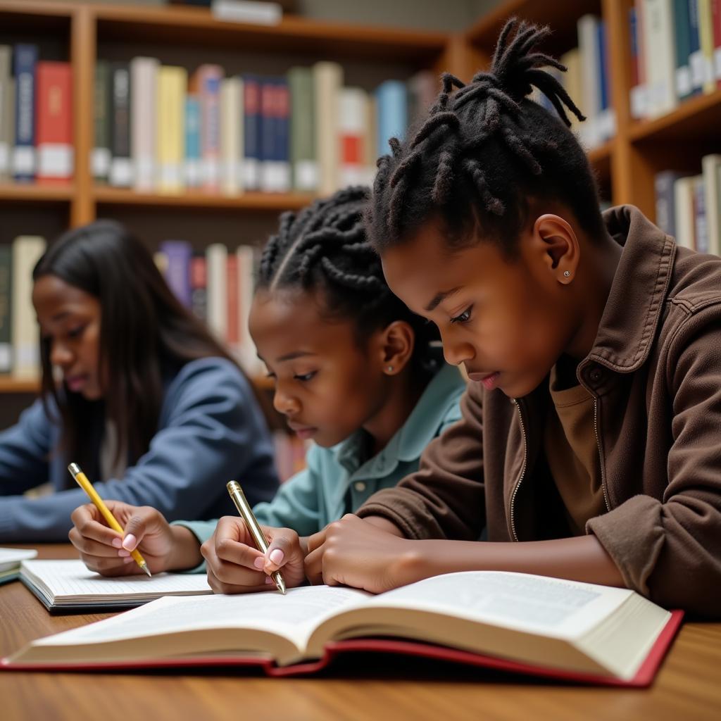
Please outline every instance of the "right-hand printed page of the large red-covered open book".
[[632, 593], [627, 588], [524, 573], [466, 571], [382, 593], [368, 605], [446, 613], [571, 639], [609, 616]]

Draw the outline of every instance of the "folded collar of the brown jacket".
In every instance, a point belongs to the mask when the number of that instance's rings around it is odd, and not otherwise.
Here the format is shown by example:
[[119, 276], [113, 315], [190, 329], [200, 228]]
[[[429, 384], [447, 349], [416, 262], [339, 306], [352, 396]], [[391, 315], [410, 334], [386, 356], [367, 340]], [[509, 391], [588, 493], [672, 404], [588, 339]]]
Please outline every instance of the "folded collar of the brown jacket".
[[633, 205], [611, 208], [603, 213], [603, 221], [623, 251], [583, 365], [596, 361], [630, 373], [645, 363], [653, 344], [671, 283], [676, 242]]

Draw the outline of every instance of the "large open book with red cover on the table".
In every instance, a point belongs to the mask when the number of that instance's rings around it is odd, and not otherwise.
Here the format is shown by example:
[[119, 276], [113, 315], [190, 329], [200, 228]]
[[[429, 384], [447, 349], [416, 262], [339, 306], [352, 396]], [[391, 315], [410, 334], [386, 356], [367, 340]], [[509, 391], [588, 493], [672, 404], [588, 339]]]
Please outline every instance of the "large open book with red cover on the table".
[[642, 686], [680, 619], [631, 590], [472, 571], [379, 596], [310, 586], [287, 596], [161, 598], [35, 640], [2, 667], [260, 664], [288, 675], [322, 668], [343, 651], [380, 650]]

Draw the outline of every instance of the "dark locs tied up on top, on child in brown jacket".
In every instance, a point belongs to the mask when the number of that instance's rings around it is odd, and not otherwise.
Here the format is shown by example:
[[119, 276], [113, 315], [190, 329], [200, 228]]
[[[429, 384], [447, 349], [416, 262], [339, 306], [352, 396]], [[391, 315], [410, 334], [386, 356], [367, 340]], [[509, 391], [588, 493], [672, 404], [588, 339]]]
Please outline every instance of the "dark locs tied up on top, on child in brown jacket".
[[[596, 180], [569, 130], [566, 108], [585, 118], [541, 69], [566, 70], [536, 50], [549, 33], [512, 18], [498, 37], [490, 72], [475, 74], [468, 85], [443, 74], [425, 122], [403, 143], [391, 138], [392, 154], [378, 161], [366, 221], [373, 247], [382, 252], [438, 218], [451, 249], [481, 236], [512, 258], [528, 220], [528, 198], [561, 201], [590, 236], [603, 234]], [[558, 117], [526, 98], [531, 86]]]

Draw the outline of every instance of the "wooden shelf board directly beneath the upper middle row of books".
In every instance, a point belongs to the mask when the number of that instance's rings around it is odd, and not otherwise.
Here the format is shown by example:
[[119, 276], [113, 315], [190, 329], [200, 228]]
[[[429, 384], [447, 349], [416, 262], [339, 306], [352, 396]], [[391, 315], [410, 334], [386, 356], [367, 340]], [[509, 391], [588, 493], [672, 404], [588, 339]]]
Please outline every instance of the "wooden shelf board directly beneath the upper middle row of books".
[[223, 208], [237, 211], [273, 212], [297, 211], [311, 203], [310, 193], [242, 193], [240, 195], [216, 195], [202, 190], [187, 190], [177, 195], [161, 193], [137, 193], [135, 190], [117, 187], [95, 187], [96, 203], [108, 205], [143, 205], [156, 208], [196, 208], [208, 210]]

